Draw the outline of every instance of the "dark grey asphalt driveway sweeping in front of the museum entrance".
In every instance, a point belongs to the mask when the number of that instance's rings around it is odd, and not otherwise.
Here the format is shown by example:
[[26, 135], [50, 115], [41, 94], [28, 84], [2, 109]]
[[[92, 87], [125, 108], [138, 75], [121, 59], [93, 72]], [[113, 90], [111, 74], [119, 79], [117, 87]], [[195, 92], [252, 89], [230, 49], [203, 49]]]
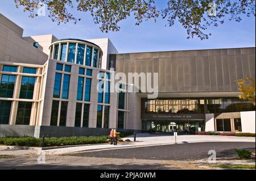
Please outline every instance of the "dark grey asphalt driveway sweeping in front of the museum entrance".
[[[114, 145], [113, 145], [114, 146]], [[149, 146], [144, 148], [114, 149], [69, 154], [76, 157], [179, 160], [209, 158], [208, 151], [215, 150], [216, 158], [236, 157], [234, 149], [255, 150], [255, 142], [199, 142], [177, 145]]]

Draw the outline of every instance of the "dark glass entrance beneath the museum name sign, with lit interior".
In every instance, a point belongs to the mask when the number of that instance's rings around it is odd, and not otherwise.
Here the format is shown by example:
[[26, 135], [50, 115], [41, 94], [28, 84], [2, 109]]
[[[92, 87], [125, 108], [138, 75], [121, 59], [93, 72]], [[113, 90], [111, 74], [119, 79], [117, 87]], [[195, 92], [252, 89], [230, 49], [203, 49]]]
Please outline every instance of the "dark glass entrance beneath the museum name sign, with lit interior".
[[204, 120], [142, 120], [143, 132], [196, 134], [204, 128]]

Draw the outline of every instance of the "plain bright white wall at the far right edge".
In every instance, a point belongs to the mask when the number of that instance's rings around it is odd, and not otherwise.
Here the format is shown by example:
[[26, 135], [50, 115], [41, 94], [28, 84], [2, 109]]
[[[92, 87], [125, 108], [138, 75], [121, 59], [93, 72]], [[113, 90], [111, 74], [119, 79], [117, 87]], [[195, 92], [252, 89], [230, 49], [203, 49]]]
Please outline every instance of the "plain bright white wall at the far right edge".
[[243, 133], [255, 133], [255, 111], [241, 112]]

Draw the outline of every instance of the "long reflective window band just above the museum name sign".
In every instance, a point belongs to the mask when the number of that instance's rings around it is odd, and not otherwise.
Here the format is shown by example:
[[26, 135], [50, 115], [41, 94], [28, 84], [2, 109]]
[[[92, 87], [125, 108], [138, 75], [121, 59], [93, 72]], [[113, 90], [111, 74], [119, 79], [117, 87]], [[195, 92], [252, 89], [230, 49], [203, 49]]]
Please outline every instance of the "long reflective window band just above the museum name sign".
[[144, 108], [146, 113], [222, 113], [255, 110], [252, 103], [236, 98], [144, 100]]

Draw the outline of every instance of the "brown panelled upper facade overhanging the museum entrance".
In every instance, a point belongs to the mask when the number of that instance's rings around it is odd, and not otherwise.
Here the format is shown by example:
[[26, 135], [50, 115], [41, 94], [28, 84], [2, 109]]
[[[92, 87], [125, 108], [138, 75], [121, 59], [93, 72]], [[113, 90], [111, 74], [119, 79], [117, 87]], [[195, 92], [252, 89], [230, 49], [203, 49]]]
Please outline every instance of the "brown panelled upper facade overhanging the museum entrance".
[[159, 92], [231, 92], [255, 78], [255, 48], [117, 54], [116, 71], [159, 73]]

